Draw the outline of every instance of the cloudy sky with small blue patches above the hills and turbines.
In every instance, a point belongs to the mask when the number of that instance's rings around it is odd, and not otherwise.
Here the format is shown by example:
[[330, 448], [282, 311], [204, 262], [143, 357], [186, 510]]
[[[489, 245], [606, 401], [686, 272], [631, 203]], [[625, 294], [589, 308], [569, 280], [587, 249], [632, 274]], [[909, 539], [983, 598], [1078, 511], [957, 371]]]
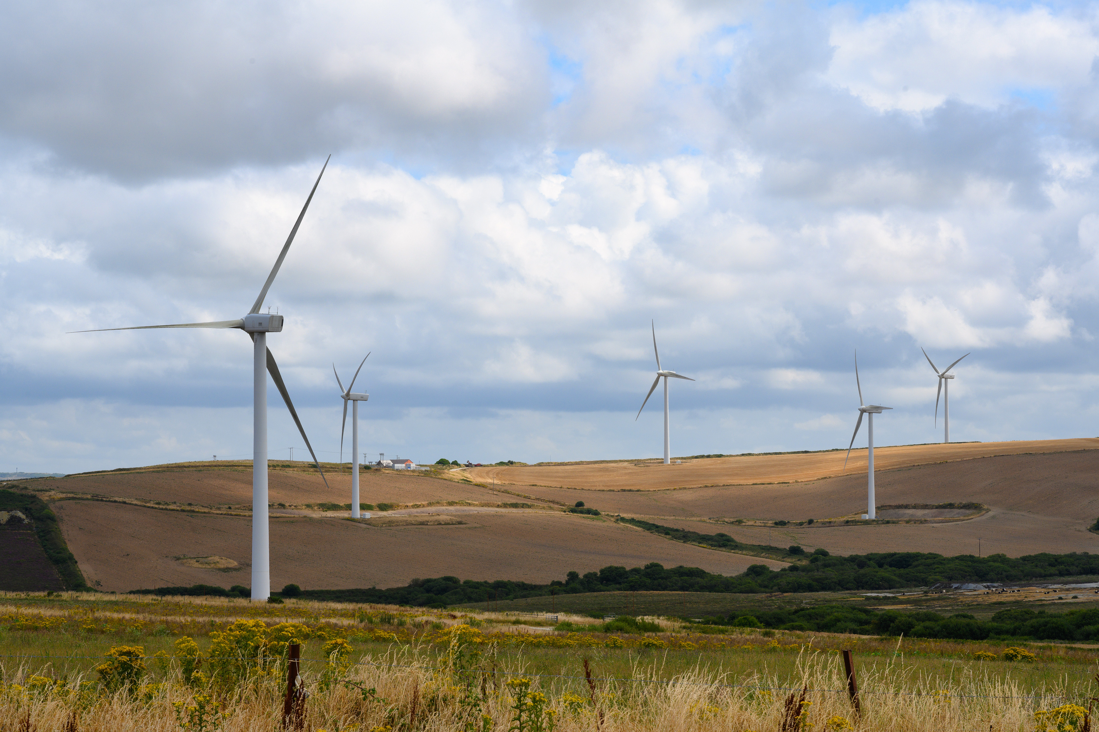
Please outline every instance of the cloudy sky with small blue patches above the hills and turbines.
[[[1099, 5], [0, 7], [0, 472], [1099, 436]], [[269, 454], [306, 455], [269, 387]], [[864, 428], [865, 430], [865, 428]], [[349, 426], [348, 426], [349, 432]], [[865, 446], [865, 431], [855, 444]], [[349, 460], [349, 439], [344, 443]]]

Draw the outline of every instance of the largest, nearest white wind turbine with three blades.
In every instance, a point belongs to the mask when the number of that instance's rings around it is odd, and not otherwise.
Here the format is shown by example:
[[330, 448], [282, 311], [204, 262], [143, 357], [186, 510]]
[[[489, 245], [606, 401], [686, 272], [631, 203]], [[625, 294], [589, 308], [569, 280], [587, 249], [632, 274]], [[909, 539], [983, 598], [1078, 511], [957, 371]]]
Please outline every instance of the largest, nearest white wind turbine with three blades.
[[[329, 156], [329, 160], [332, 156]], [[329, 167], [329, 160], [324, 161], [324, 167], [321, 168], [321, 174], [317, 177], [317, 182], [313, 183], [313, 190], [309, 192], [309, 198], [306, 199], [306, 205], [302, 206], [301, 213], [298, 214], [298, 221], [295, 222], [293, 228], [290, 229], [290, 236], [287, 237], [286, 244], [282, 245], [282, 251], [279, 252], [278, 259], [275, 260], [275, 267], [271, 268], [270, 274], [267, 275], [267, 281], [264, 282], [263, 290], [259, 291], [259, 296], [256, 297], [256, 302], [253, 303], [252, 309], [243, 318], [237, 318], [235, 320], [214, 320], [210, 323], [178, 323], [175, 325], [138, 325], [131, 326], [129, 328], [96, 328], [93, 330], [77, 330], [75, 333], [99, 333], [102, 330], [145, 330], [148, 328], [238, 328], [252, 338], [253, 342], [253, 427], [252, 427], [252, 599], [254, 600], [265, 600], [270, 596], [270, 532], [268, 530], [268, 523], [270, 519], [267, 515], [267, 374], [264, 373], [264, 369], [271, 374], [271, 380], [275, 382], [276, 388], [278, 388], [279, 394], [282, 395], [282, 401], [286, 402], [287, 408], [290, 410], [290, 416], [293, 417], [293, 423], [298, 426], [298, 431], [301, 432], [301, 439], [306, 441], [306, 447], [309, 448], [309, 454], [313, 457], [313, 464], [317, 465], [317, 470], [321, 471], [321, 477], [324, 478], [324, 485], [328, 486], [329, 481], [324, 477], [324, 471], [321, 470], [321, 463], [317, 460], [317, 453], [313, 452], [313, 446], [309, 443], [309, 438], [306, 437], [306, 429], [301, 426], [301, 420], [298, 418], [298, 413], [293, 408], [293, 402], [290, 401], [290, 393], [286, 391], [286, 384], [282, 383], [282, 375], [278, 371], [278, 364], [275, 362], [275, 357], [271, 356], [270, 349], [267, 348], [267, 334], [268, 333], [281, 333], [282, 330], [282, 316], [271, 315], [268, 313], [260, 313], [259, 308], [263, 307], [264, 299], [267, 296], [267, 291], [271, 286], [271, 282], [275, 281], [275, 275], [278, 274], [279, 268], [282, 266], [282, 260], [286, 259], [286, 252], [290, 250], [290, 245], [293, 243], [293, 237], [298, 234], [298, 227], [301, 226], [301, 219], [306, 217], [306, 211], [309, 209], [309, 203], [313, 200], [313, 193], [317, 192], [317, 187], [321, 183], [321, 176], [324, 174], [324, 170]], [[269, 311], [270, 308], [268, 308]]]

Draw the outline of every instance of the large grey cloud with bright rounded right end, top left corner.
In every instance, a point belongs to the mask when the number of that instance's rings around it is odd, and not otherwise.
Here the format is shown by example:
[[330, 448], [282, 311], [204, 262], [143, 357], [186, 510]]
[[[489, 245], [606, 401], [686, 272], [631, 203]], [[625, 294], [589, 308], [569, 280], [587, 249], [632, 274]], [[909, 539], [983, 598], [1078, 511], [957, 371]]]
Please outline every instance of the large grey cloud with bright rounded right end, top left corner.
[[550, 93], [521, 18], [492, 3], [12, 2], [0, 29], [0, 131], [124, 180], [348, 145], [491, 159]]

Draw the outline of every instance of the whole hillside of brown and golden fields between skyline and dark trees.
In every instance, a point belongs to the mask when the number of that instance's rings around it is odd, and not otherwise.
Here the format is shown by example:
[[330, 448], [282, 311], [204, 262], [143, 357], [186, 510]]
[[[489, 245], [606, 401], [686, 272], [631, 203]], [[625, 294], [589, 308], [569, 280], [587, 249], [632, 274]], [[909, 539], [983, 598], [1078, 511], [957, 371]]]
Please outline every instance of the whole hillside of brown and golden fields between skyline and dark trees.
[[[273, 461], [273, 583], [393, 587], [415, 577], [443, 575], [547, 583], [569, 571], [584, 574], [612, 564], [682, 564], [723, 575], [739, 574], [757, 562], [781, 566], [671, 541], [615, 523], [606, 514], [704, 534], [728, 533], [745, 544], [798, 544], [836, 555], [899, 550], [1009, 556], [1099, 552], [1099, 534], [1087, 530], [1099, 516], [1097, 444], [1099, 440], [1081, 439], [882, 448], [879, 465], [895, 468], [878, 470], [879, 504], [975, 502], [987, 510], [955, 522], [878, 525], [845, 523], [865, 510], [866, 477], [857, 468], [845, 475], [819, 477], [832, 472], [830, 461], [842, 460], [842, 453], [834, 452], [645, 468], [599, 463], [365, 471], [362, 500], [386, 510], [357, 522], [347, 520], [342, 510], [329, 510], [348, 499], [346, 465], [325, 465], [331, 486], [325, 487], [304, 463]], [[947, 462], [942, 462], [944, 455]], [[737, 465], [764, 468], [742, 471], [737, 477], [730, 472]], [[671, 484], [644, 477], [686, 475], [682, 469], [693, 471], [690, 474], [701, 485], [682, 487], [678, 477]], [[576, 480], [562, 477], [560, 485], [521, 482], [534, 475], [530, 471], [542, 470]], [[607, 470], [633, 475], [640, 483], [621, 489], [562, 487], [595, 480], [591, 471]], [[795, 474], [818, 477], [795, 478], [797, 483], [778, 480]], [[759, 485], [728, 483], [758, 477], [768, 480]], [[248, 584], [247, 463], [153, 465], [20, 485], [53, 508], [91, 586], [125, 592]], [[604, 516], [562, 513], [577, 500]], [[804, 523], [810, 518], [817, 525]], [[837, 520], [820, 526], [823, 519]], [[775, 521], [787, 523], [775, 526]]]

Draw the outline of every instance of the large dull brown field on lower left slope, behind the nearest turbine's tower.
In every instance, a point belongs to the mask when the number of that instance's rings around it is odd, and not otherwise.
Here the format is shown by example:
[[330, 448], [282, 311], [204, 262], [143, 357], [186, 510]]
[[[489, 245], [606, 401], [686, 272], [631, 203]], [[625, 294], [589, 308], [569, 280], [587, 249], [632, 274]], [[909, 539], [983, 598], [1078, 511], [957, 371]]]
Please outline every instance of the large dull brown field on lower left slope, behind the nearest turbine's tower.
[[[103, 590], [249, 584], [247, 518], [164, 511], [123, 504], [64, 500], [53, 506], [88, 583]], [[271, 521], [271, 585], [304, 588], [396, 587], [413, 577], [564, 579], [591, 572], [660, 562], [725, 575], [750, 564], [779, 562], [668, 541], [637, 529], [566, 514], [479, 514], [458, 526], [378, 528], [340, 519]], [[189, 566], [181, 559], [215, 555], [227, 570]], [[193, 563], [191, 563], [193, 564]]]

